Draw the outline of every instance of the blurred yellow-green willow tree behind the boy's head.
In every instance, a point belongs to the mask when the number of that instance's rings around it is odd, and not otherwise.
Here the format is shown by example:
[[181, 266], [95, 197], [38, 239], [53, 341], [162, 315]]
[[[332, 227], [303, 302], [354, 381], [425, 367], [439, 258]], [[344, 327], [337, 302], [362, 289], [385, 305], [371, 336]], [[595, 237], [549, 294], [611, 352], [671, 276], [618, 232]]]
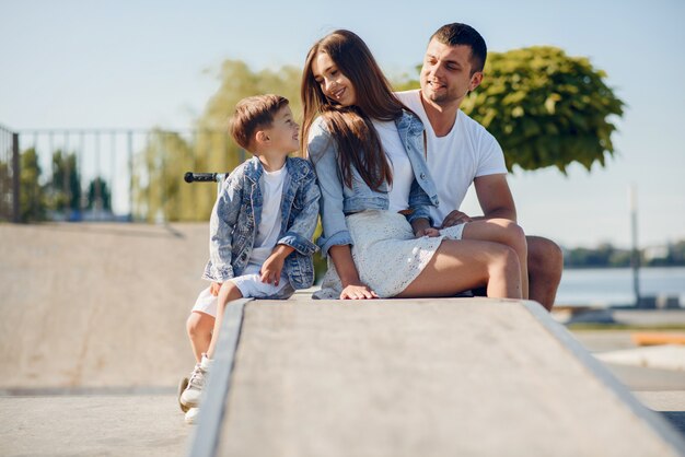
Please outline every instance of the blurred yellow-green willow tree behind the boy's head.
[[275, 93], [290, 101], [295, 117], [300, 104], [300, 70], [252, 71], [240, 60], [227, 60], [218, 72], [219, 89], [197, 121], [196, 132], [185, 138], [176, 132], [155, 130], [133, 167], [136, 216], [147, 221], [207, 221], [217, 198], [211, 185], [187, 185], [185, 172], [228, 173], [248, 153], [233, 142], [228, 119], [235, 104], [246, 96]]

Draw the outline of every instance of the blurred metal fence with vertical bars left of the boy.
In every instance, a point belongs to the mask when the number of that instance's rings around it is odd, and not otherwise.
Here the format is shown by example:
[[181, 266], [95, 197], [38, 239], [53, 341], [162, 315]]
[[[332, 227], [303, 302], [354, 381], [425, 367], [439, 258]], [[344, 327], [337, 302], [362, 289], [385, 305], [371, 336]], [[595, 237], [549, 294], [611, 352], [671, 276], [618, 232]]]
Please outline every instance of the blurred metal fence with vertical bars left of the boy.
[[216, 189], [188, 196], [183, 174], [224, 173], [244, 159], [225, 131], [0, 126], [0, 220], [202, 220], [208, 204], [193, 200]]

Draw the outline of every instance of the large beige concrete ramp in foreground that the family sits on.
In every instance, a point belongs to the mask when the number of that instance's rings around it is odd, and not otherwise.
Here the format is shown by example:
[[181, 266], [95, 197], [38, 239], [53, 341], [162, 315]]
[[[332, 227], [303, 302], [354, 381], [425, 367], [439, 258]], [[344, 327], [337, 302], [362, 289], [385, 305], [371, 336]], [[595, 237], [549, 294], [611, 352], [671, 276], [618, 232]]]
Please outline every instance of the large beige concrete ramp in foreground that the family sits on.
[[532, 302], [300, 296], [247, 303], [242, 327], [236, 309], [194, 456], [685, 455]]

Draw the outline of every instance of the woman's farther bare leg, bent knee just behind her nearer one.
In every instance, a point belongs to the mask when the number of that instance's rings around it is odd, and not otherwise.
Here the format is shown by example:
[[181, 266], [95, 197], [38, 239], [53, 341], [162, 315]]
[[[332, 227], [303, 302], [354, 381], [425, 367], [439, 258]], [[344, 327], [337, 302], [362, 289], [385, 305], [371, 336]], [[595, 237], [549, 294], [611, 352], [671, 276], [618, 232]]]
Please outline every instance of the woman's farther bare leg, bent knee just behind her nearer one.
[[521, 226], [508, 219], [473, 221], [464, 227], [462, 239], [501, 243], [515, 250], [521, 267], [521, 295], [523, 298], [529, 297], [529, 251]]

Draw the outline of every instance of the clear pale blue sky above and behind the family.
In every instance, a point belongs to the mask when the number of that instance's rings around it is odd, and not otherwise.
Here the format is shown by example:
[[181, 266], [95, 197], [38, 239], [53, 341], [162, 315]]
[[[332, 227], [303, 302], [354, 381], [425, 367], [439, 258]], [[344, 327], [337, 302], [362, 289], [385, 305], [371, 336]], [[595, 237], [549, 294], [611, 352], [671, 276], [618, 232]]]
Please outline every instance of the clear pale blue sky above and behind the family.
[[[567, 247], [629, 247], [634, 187], [640, 245], [685, 239], [682, 0], [0, 0], [0, 125], [11, 129], [188, 128], [224, 59], [300, 67], [336, 28], [360, 35], [391, 77], [414, 74], [449, 22], [474, 26], [489, 50], [557, 46], [606, 71], [625, 114], [606, 167], [514, 169], [520, 224]], [[473, 194], [462, 209], [478, 213]]]

